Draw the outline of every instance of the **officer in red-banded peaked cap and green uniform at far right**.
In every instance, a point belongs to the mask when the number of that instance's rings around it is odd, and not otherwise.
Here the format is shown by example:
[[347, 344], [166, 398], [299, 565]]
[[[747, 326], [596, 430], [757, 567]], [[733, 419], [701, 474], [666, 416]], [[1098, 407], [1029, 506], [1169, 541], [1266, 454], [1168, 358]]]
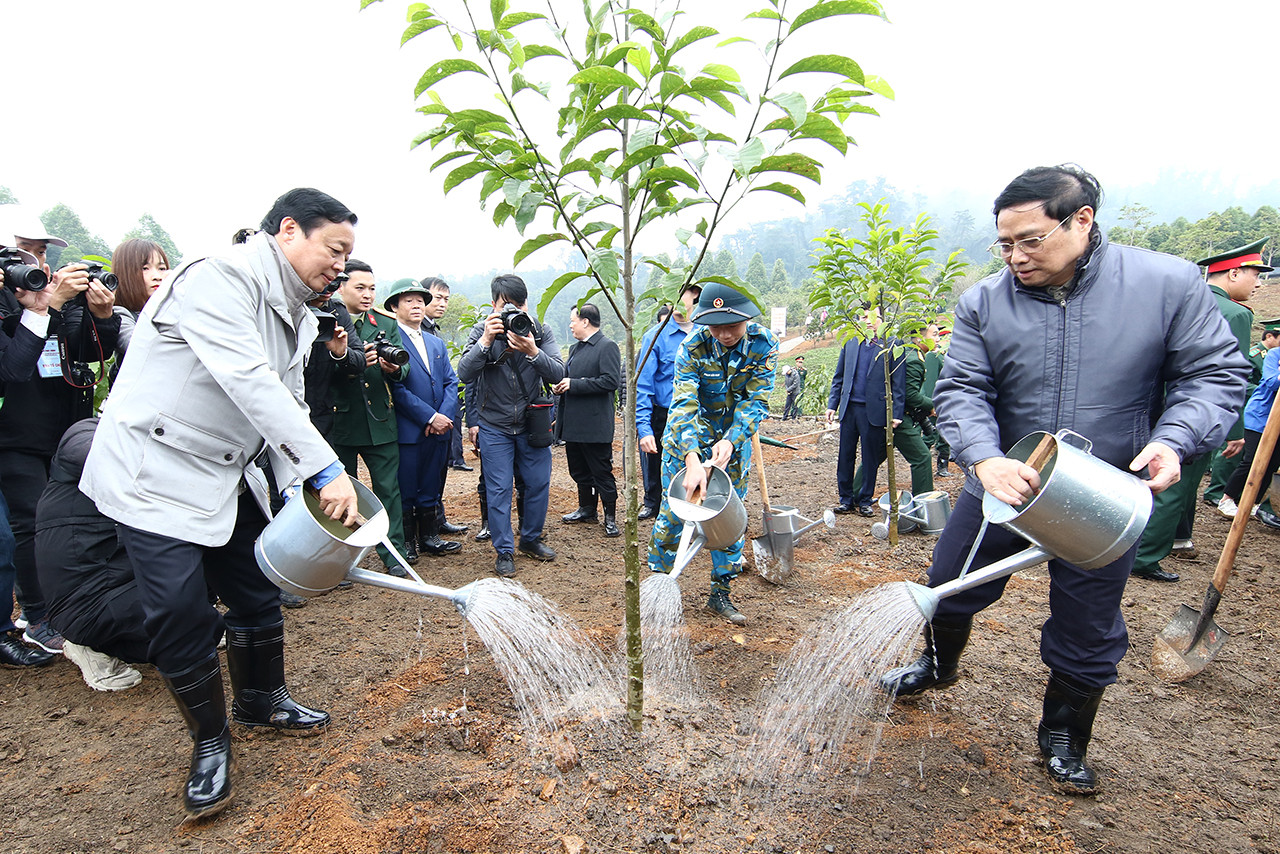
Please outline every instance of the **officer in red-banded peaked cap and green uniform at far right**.
[[[1240, 355], [1249, 355], [1249, 337], [1253, 328], [1253, 311], [1242, 305], [1258, 287], [1258, 274], [1270, 271], [1271, 268], [1262, 264], [1260, 250], [1266, 239], [1254, 241], [1247, 246], [1229, 250], [1219, 255], [1197, 261], [1204, 268], [1208, 289], [1213, 293], [1219, 311], [1226, 318], [1240, 347]], [[1222, 449], [1224, 457], [1235, 457], [1244, 449], [1244, 421], [1243, 408], [1236, 412], [1236, 421], [1226, 434], [1226, 446]], [[1196, 516], [1196, 493], [1199, 490], [1201, 480], [1212, 455], [1201, 455], [1183, 461], [1181, 478], [1176, 484], [1156, 494], [1156, 504], [1151, 511], [1151, 519], [1142, 533], [1138, 543], [1138, 556], [1134, 558], [1132, 575], [1149, 581], [1176, 581], [1178, 574], [1170, 572], [1160, 566], [1160, 561], [1169, 556], [1174, 548], [1174, 540], [1181, 540], [1181, 545], [1190, 545], [1192, 520]], [[1222, 497], [1219, 510], [1226, 512], [1228, 502], [1231, 513], [1235, 511], [1235, 502]], [[1180, 530], [1179, 530], [1180, 529]], [[1179, 536], [1184, 534], [1184, 536]]]

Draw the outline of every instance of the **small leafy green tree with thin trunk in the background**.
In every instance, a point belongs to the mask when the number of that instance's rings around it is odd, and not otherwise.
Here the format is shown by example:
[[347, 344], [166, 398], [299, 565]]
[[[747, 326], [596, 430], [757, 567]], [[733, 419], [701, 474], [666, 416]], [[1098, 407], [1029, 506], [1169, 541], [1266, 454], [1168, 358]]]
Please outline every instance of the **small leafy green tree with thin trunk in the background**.
[[[877, 338], [884, 342], [879, 357], [886, 366], [906, 350], [906, 342], [919, 337], [945, 305], [952, 283], [964, 274], [961, 252], [945, 262], [931, 261], [938, 233], [928, 214], [911, 225], [895, 227], [888, 205], [882, 201], [860, 205], [867, 237], [849, 237], [829, 229], [815, 238], [813, 270], [819, 283], [809, 297], [814, 310], [826, 309], [828, 323], [835, 320], [841, 341]], [[890, 346], [890, 342], [896, 342]], [[897, 545], [897, 478], [893, 471], [893, 393], [890, 371], [884, 371], [886, 458], [888, 460], [890, 543]]]

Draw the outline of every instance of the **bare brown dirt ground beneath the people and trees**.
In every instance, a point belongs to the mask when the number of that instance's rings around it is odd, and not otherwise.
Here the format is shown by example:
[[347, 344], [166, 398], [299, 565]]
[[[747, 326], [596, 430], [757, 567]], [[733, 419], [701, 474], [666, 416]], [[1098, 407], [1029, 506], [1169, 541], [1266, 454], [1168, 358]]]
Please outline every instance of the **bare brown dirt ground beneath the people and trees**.
[[[769, 421], [765, 433], [804, 425]], [[833, 438], [764, 453], [774, 502], [810, 517], [833, 503]], [[899, 471], [905, 485], [901, 461]], [[952, 494], [959, 485], [940, 481]], [[622, 540], [562, 525], [573, 503], [557, 451], [547, 539], [559, 560], [517, 558], [517, 580], [612, 653]], [[451, 474], [448, 507], [475, 525], [475, 475]], [[755, 535], [754, 484], [748, 510]], [[334, 725], [305, 740], [237, 729], [236, 798], [204, 823], [180, 821], [189, 741], [152, 668], [123, 694], [88, 690], [69, 662], [0, 671], [0, 850], [1280, 850], [1275, 531], [1249, 524], [1217, 612], [1231, 632], [1217, 661], [1181, 685], [1151, 672], [1153, 636], [1179, 603], [1199, 607], [1228, 531], [1203, 504], [1199, 558], [1166, 563], [1181, 583], [1129, 585], [1132, 648], [1089, 753], [1098, 796], [1059, 794], [1036, 761], [1043, 567], [1015, 576], [979, 615], [957, 685], [891, 713], [869, 768], [851, 750], [842, 767], [768, 795], [744, 785], [755, 700], [796, 639], [859, 592], [916, 580], [928, 565], [932, 538], [908, 534], [891, 552], [870, 522], [841, 516], [837, 530], [806, 535], [786, 586], [737, 580], [745, 627], [701, 609], [708, 565], [695, 561], [681, 586], [705, 702], [650, 698], [640, 735], [621, 725], [621, 699], [609, 726], [570, 723], [558, 750], [571, 743], [579, 762], [567, 771], [545, 743], [531, 746], [511, 691], [452, 607], [369, 586], [285, 612], [291, 688], [328, 708]], [[424, 558], [417, 568], [461, 586], [490, 576], [493, 557], [468, 535], [456, 558]]]

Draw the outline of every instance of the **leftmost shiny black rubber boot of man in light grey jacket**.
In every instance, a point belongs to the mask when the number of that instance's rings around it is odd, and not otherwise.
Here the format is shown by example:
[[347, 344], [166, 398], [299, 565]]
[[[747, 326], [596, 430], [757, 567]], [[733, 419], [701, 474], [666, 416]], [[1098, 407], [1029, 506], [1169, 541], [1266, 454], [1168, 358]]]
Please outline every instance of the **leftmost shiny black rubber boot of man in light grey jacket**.
[[232, 731], [227, 726], [221, 665], [212, 656], [164, 681], [195, 743], [182, 793], [183, 809], [192, 818], [212, 816], [232, 799]]

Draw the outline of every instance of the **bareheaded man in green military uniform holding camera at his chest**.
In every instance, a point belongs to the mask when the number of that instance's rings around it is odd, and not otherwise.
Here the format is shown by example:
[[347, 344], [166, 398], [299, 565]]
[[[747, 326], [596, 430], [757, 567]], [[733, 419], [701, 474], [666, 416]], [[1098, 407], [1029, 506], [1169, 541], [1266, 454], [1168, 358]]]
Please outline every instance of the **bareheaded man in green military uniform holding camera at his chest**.
[[[372, 311], [376, 289], [374, 269], [364, 261], [351, 259], [347, 261], [347, 277], [338, 288], [338, 296], [351, 312], [356, 328], [355, 341], [361, 342], [357, 350], [362, 347], [365, 351], [365, 367], [356, 376], [334, 378], [329, 444], [338, 452], [347, 471], [356, 471], [357, 457], [365, 460], [374, 494], [387, 508], [392, 545], [406, 560], [416, 561], [416, 556], [406, 553], [404, 548], [397, 444], [399, 434], [390, 389], [408, 376], [408, 352], [401, 342], [396, 321]], [[378, 545], [378, 556], [383, 558], [388, 575], [408, 575], [385, 545]]]

